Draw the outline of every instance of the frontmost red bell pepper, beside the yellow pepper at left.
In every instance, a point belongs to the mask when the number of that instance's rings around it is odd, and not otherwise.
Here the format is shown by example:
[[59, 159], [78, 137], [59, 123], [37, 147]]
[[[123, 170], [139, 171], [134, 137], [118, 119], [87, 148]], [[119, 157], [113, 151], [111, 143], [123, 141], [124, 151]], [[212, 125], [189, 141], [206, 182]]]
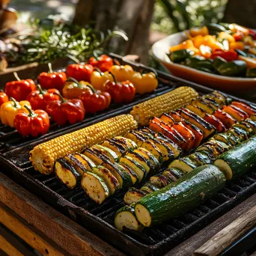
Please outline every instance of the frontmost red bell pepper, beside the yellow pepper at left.
[[19, 112], [14, 118], [14, 127], [24, 137], [31, 135], [37, 137], [44, 135], [49, 130], [49, 115], [42, 109], [32, 111], [28, 109], [27, 112]]

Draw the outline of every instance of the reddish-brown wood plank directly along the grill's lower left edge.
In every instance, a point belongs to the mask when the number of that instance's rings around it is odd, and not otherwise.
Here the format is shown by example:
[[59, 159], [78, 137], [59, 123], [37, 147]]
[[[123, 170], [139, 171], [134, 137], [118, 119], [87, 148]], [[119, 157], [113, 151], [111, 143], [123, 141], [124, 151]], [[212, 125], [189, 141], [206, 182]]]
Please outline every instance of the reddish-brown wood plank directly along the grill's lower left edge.
[[0, 174], [0, 201], [72, 255], [123, 255], [4, 174]]

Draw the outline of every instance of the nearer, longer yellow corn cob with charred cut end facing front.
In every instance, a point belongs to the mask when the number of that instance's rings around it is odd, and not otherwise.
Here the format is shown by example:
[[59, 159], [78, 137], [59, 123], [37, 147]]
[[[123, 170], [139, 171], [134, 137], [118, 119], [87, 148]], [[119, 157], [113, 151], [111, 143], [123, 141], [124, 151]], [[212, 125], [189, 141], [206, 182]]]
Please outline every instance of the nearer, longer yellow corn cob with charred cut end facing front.
[[51, 174], [54, 162], [58, 157], [64, 156], [66, 153], [81, 152], [85, 147], [123, 135], [136, 127], [137, 122], [132, 115], [119, 115], [91, 127], [85, 127], [38, 144], [31, 150], [29, 160], [40, 173]]

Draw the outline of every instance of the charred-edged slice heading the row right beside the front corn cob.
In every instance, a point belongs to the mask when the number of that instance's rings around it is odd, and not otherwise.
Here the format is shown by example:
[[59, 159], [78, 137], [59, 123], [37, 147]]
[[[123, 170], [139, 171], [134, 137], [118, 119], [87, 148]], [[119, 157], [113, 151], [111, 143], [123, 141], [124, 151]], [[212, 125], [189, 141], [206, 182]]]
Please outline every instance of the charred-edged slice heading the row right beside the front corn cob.
[[71, 165], [63, 157], [60, 157], [55, 162], [55, 174], [58, 180], [61, 181], [67, 188], [73, 189], [79, 180], [81, 180], [81, 174], [76, 168]]

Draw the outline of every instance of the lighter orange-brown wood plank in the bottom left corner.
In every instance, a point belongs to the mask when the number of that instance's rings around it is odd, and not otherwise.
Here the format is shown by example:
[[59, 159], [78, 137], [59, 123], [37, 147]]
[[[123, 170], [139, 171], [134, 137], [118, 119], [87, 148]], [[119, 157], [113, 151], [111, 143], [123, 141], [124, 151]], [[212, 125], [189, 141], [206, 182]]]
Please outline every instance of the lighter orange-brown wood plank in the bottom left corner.
[[40, 252], [41, 255], [52, 255], [52, 256], [61, 256], [63, 253], [59, 252], [57, 249], [49, 245], [40, 235], [36, 234], [35, 231], [32, 231], [32, 228], [29, 228], [27, 225], [22, 224], [19, 220], [19, 216], [16, 216], [15, 213], [12, 213], [11, 210], [8, 210], [7, 207], [4, 207], [0, 203], [0, 222], [18, 237], [28, 243], [29, 246], [36, 249], [37, 252]]

